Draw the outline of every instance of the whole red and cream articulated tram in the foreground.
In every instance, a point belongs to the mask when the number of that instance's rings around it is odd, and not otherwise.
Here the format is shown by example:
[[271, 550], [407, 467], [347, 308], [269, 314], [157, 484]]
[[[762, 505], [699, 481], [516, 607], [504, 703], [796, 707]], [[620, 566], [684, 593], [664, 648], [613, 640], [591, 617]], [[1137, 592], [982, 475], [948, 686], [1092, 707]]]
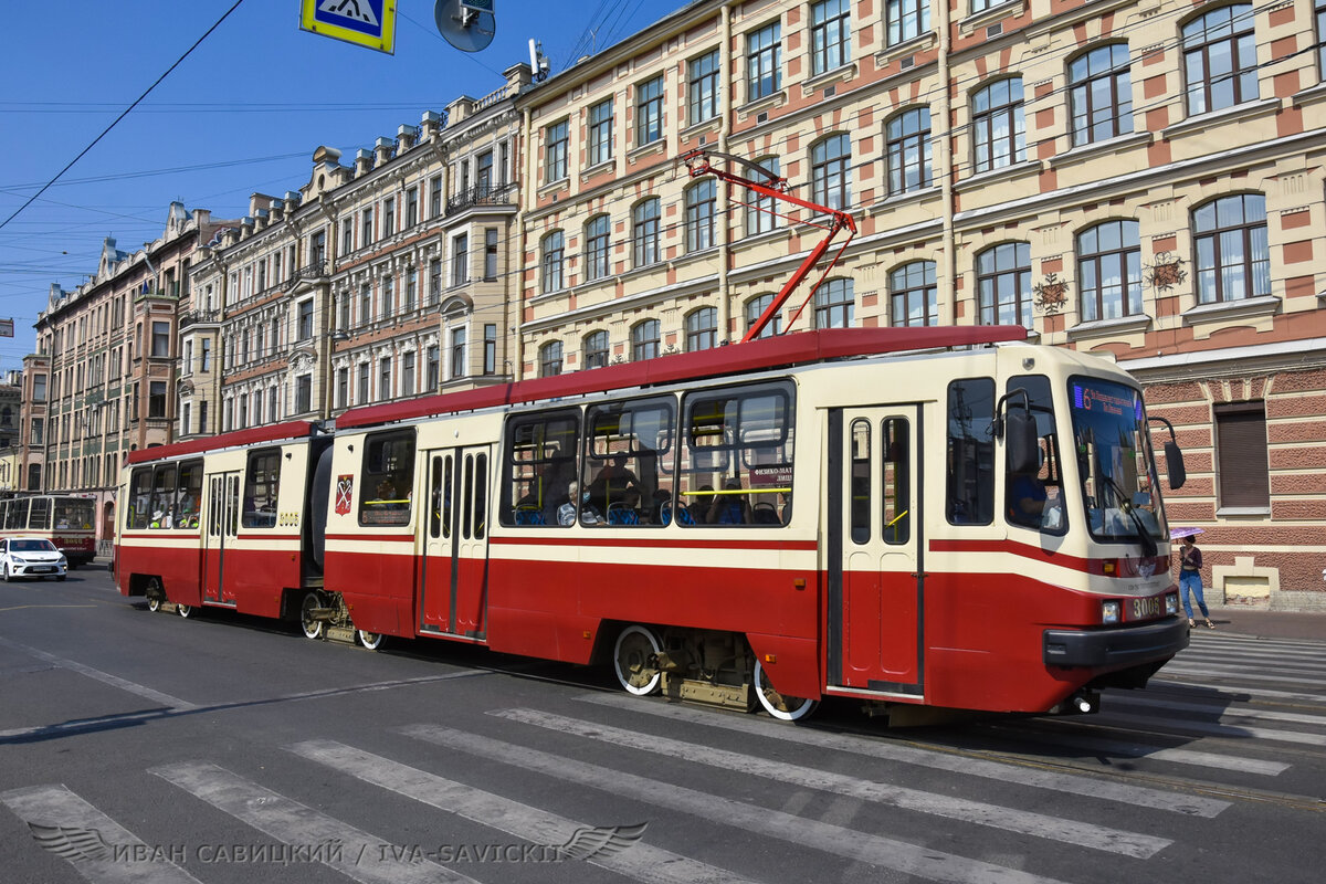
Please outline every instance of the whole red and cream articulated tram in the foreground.
[[1024, 337], [808, 331], [134, 452], [117, 582], [782, 718], [1090, 710], [1187, 624], [1136, 383]]

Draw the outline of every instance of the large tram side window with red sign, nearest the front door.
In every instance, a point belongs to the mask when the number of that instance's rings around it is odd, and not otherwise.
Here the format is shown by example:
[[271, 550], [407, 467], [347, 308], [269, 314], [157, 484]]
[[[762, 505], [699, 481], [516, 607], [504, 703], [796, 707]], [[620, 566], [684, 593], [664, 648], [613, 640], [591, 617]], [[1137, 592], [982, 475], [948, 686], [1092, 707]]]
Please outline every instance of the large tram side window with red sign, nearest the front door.
[[793, 386], [786, 382], [687, 396], [678, 522], [785, 525], [790, 517], [794, 416]]

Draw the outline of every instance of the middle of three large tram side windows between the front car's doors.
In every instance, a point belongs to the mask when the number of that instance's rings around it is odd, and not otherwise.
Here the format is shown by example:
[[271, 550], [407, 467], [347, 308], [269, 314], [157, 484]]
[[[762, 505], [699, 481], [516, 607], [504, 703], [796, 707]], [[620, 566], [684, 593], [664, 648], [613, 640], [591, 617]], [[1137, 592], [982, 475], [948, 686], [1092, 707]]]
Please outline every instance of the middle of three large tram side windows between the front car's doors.
[[676, 403], [651, 396], [591, 406], [585, 412], [581, 506], [602, 518], [582, 525], [663, 526], [672, 521], [672, 436]]

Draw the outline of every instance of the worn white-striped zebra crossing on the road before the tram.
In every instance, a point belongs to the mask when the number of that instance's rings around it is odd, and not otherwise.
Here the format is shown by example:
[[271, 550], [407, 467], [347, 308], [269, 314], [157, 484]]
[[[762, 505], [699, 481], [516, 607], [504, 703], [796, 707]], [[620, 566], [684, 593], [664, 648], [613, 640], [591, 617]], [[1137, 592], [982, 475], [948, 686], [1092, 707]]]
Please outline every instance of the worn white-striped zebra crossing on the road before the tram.
[[[1000, 741], [997, 751], [789, 726], [617, 693], [586, 693], [566, 705], [492, 709], [469, 728], [444, 720], [385, 726], [386, 736], [412, 747], [410, 758], [332, 738], [281, 746], [292, 763], [317, 771], [310, 783], [382, 790], [438, 831], [457, 819], [489, 834], [473, 844], [396, 844], [391, 832], [321, 807], [325, 786], [267, 782], [263, 766], [229, 770], [206, 758], [141, 775], [168, 783], [179, 802], [195, 802], [195, 812], [256, 832], [231, 854], [216, 844], [210, 855], [199, 844], [162, 846], [154, 832], [135, 831], [133, 820], [114, 819], [62, 783], [3, 791], [0, 803], [27, 824], [29, 850], [49, 851], [93, 884], [233, 880], [233, 869], [221, 875], [219, 865], [240, 860], [304, 864], [318, 880], [363, 884], [505, 881], [512, 865], [525, 863], [556, 865], [560, 880], [579, 880], [575, 869], [585, 867], [602, 876], [593, 880], [788, 880], [731, 847], [745, 843], [908, 880], [1067, 884], [1081, 879], [1065, 873], [1063, 863], [1038, 860], [1067, 856], [1067, 865], [1081, 868], [1118, 860], [1146, 869], [1181, 847], [1183, 820], [1231, 814], [1237, 790], [1217, 795], [1033, 763], [1038, 744], [1152, 762], [1207, 783], [1221, 771], [1281, 789], [1305, 759], [1326, 763], [1326, 644], [1195, 636], [1151, 691], [1110, 691], [1098, 716], [975, 725]], [[1294, 751], [1285, 754], [1286, 747]], [[503, 782], [544, 786], [503, 794], [467, 782], [483, 765], [521, 773]], [[721, 787], [720, 773], [743, 787]], [[631, 807], [635, 816], [575, 818], [546, 806], [548, 783], [598, 795], [591, 807]], [[994, 785], [998, 801], [988, 798]], [[703, 824], [716, 832], [715, 844], [678, 838], [666, 820]], [[963, 850], [972, 832], [1006, 836], [1006, 852]]]

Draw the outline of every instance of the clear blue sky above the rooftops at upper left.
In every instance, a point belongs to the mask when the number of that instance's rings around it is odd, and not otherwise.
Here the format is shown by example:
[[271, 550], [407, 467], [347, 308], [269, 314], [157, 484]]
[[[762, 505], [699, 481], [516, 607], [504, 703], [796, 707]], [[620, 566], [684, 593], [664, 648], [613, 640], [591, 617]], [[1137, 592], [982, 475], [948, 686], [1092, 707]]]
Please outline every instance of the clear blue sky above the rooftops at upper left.
[[[5, 3], [0, 37], [0, 221], [78, 155], [235, 0]], [[497, 34], [467, 54], [434, 0], [396, 0], [395, 54], [300, 30], [301, 0], [244, 0], [133, 113], [0, 229], [0, 371], [33, 353], [52, 282], [97, 269], [102, 239], [133, 252], [162, 235], [171, 200], [213, 217], [249, 193], [308, 182], [313, 150], [349, 162], [400, 123], [485, 95], [542, 41], [552, 73], [647, 27], [684, 0], [496, 0]], [[593, 34], [593, 36], [591, 36]], [[593, 41], [593, 42], [591, 42]]]

